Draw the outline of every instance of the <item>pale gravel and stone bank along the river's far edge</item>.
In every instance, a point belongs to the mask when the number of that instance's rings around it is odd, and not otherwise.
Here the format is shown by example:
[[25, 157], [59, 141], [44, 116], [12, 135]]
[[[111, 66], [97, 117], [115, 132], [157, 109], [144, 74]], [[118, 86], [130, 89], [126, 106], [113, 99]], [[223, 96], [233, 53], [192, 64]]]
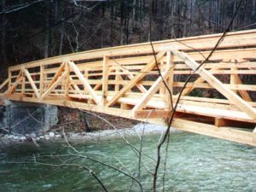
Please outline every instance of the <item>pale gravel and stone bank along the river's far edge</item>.
[[[166, 131], [165, 126], [153, 125], [153, 124], [138, 124], [133, 125], [131, 128], [122, 128], [116, 130], [100, 130], [91, 132], [72, 132], [64, 131], [65, 136], [69, 141], [99, 141], [103, 139], [108, 139], [112, 137], [131, 137], [131, 136], [142, 136], [148, 134], [158, 133], [161, 134]], [[177, 131], [172, 128], [172, 131]], [[63, 131], [49, 131], [40, 134], [26, 134], [25, 136], [13, 135], [13, 134], [3, 134], [0, 133], [0, 144], [11, 144], [11, 143], [25, 143], [25, 142], [42, 142], [42, 141], [55, 141], [63, 140]]]

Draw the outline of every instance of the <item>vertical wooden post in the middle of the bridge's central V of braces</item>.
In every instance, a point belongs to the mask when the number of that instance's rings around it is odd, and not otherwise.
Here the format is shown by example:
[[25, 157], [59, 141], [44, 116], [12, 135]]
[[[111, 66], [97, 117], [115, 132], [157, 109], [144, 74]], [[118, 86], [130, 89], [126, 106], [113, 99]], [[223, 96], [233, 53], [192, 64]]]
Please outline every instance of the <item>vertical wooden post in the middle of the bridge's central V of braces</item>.
[[102, 103], [106, 104], [108, 97], [108, 56], [103, 57], [103, 74], [102, 74]]

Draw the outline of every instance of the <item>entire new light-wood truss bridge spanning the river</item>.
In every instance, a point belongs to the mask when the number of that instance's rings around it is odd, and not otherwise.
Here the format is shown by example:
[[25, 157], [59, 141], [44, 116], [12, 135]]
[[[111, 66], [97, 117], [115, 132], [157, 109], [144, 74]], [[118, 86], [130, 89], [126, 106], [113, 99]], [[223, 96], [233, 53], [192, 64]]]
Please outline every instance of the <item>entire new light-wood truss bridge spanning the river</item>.
[[[9, 67], [1, 99], [39, 102], [173, 126], [256, 145], [256, 30], [131, 44]], [[156, 62], [157, 61], [157, 62]], [[159, 73], [160, 72], [160, 73]], [[160, 75], [161, 74], [161, 75]], [[249, 128], [249, 129], [244, 129]], [[254, 131], [253, 131], [254, 130]]]

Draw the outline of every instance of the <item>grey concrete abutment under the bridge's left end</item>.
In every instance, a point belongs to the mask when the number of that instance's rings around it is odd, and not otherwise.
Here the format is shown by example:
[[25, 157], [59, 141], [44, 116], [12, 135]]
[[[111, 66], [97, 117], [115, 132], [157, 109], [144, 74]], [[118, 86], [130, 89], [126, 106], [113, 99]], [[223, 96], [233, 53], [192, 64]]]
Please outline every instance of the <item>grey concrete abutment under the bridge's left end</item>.
[[0, 126], [12, 133], [30, 134], [49, 131], [58, 122], [55, 106], [5, 101], [0, 107]]

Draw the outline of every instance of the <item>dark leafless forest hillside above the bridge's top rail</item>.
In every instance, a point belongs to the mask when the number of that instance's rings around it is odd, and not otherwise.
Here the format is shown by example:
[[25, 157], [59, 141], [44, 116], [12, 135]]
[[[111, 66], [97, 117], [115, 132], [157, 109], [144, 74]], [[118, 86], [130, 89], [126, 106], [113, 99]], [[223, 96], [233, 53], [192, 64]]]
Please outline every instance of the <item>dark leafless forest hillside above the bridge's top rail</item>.
[[[2, 0], [6, 68], [55, 55], [223, 32], [238, 0]], [[241, 1], [231, 31], [256, 26], [256, 0]]]

